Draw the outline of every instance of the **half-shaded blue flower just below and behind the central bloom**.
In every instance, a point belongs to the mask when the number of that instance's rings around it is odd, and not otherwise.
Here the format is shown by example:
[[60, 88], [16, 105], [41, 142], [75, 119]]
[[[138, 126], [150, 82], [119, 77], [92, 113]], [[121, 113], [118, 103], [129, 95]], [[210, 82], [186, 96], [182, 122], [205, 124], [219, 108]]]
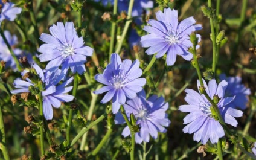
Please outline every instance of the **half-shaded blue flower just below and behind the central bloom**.
[[[135, 134], [136, 143], [149, 142], [149, 135], [154, 139], [158, 137], [158, 132], [165, 133], [167, 130], [165, 127], [170, 125], [170, 120], [165, 111], [168, 109], [168, 103], [165, 103], [163, 97], [152, 95], [146, 100], [145, 91], [142, 90], [132, 100], [127, 100], [124, 104], [127, 117], [130, 118], [130, 114], [134, 114], [136, 118], [136, 124], [140, 127], [138, 133]], [[124, 118], [118, 112], [115, 117], [116, 124], [123, 124]], [[126, 126], [122, 132], [124, 137], [130, 135], [129, 127]]]

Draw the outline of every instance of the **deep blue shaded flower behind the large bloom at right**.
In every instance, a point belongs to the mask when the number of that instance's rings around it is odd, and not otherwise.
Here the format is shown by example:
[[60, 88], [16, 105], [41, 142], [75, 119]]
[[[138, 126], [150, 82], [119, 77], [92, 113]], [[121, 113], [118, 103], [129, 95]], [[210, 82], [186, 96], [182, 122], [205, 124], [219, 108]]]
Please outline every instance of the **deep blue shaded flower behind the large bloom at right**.
[[246, 88], [245, 85], [241, 84], [241, 77], [226, 77], [225, 74], [220, 75], [220, 80], [226, 80], [228, 86], [225, 91], [225, 97], [235, 96], [235, 100], [229, 103], [228, 105], [233, 108], [245, 109], [246, 104], [248, 103], [248, 95], [251, 94], [249, 88]]

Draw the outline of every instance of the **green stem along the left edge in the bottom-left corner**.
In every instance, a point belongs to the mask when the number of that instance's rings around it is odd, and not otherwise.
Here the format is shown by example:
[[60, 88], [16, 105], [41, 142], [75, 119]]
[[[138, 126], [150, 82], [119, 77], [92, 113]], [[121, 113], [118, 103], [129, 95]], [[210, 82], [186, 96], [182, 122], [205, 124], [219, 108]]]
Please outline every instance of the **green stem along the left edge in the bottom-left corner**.
[[2, 106], [0, 104], [0, 132], [1, 132], [1, 147], [2, 147], [2, 155], [4, 155], [4, 159], [10, 160], [9, 152], [7, 149], [7, 142], [5, 138], [4, 131], [4, 118], [2, 117]]

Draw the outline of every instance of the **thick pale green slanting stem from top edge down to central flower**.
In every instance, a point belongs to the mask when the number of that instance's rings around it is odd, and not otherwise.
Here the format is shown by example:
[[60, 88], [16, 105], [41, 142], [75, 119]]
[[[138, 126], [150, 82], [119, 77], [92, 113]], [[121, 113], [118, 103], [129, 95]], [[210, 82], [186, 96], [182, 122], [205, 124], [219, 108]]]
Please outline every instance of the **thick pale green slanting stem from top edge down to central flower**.
[[130, 0], [129, 8], [128, 8], [128, 14], [127, 14], [127, 19], [129, 19], [129, 20], [126, 21], [126, 24], [124, 25], [124, 30], [123, 30], [120, 42], [118, 42], [117, 50], [115, 51], [115, 53], [117, 53], [117, 54], [120, 53], [120, 50], [121, 50], [121, 47], [123, 45], [124, 38], [126, 37], [126, 33], [128, 31], [129, 25], [132, 22], [132, 19], [130, 19], [130, 18], [132, 17], [133, 3], [134, 3], [134, 0]]

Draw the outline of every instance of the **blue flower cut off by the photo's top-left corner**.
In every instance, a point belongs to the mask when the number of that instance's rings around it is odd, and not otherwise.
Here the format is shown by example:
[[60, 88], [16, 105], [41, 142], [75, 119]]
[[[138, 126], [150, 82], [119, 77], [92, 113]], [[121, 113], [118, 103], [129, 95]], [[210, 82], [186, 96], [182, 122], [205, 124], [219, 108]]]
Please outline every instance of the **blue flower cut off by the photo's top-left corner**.
[[21, 13], [22, 9], [19, 7], [14, 7], [14, 4], [11, 2], [3, 3], [0, 0], [0, 4], [2, 5], [2, 11], [0, 11], [0, 21], [7, 19], [8, 21], [14, 21], [17, 17], [17, 14]]

